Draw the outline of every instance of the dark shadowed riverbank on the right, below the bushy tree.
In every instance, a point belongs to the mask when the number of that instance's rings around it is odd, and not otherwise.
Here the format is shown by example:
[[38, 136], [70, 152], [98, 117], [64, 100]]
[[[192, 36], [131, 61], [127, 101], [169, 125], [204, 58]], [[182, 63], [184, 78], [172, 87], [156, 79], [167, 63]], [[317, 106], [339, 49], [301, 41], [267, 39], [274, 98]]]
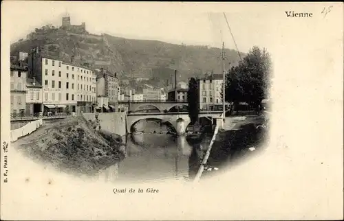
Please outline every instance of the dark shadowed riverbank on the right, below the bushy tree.
[[[225, 130], [219, 130], [207, 165], [219, 168], [216, 172], [204, 170], [202, 176], [210, 176], [227, 170], [235, 163], [257, 153], [264, 146], [268, 130], [261, 127], [266, 123], [264, 115], [226, 117]], [[252, 148], [254, 148], [254, 151]]]

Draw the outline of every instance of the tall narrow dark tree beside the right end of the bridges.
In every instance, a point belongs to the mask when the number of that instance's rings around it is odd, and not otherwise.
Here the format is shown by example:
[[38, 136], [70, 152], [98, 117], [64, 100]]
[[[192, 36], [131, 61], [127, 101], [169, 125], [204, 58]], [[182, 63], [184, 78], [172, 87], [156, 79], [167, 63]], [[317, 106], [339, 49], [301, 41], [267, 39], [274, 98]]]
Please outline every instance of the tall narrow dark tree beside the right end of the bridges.
[[189, 117], [191, 124], [195, 125], [198, 121], [198, 114], [200, 113], [199, 97], [198, 97], [198, 84], [195, 78], [189, 80], [189, 91], [187, 94], [189, 104]]

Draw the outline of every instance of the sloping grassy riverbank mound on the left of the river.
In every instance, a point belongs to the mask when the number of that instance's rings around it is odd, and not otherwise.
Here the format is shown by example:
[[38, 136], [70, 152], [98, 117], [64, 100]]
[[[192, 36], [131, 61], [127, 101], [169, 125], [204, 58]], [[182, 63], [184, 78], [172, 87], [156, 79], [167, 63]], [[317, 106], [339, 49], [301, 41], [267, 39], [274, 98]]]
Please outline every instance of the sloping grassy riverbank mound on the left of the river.
[[73, 174], [96, 174], [124, 158], [118, 137], [94, 130], [83, 117], [47, 122], [12, 145], [35, 161]]

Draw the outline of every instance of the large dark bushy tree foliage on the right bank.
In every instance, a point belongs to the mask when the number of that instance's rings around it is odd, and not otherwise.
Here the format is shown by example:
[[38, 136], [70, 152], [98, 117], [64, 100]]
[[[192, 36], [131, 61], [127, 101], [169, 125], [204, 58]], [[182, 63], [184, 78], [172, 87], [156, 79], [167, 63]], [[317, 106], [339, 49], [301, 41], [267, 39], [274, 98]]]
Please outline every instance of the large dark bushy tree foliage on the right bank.
[[247, 102], [258, 106], [268, 97], [271, 59], [268, 51], [254, 46], [239, 65], [226, 76], [226, 101], [232, 104]]

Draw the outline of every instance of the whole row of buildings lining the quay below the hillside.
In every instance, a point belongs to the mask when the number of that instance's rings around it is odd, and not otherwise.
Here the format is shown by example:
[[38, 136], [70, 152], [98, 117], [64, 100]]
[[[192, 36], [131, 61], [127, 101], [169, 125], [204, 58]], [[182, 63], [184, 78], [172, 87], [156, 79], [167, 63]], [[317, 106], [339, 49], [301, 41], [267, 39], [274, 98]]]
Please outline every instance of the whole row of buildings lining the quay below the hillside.
[[[27, 64], [23, 62], [27, 60]], [[176, 78], [176, 75], [175, 75]], [[202, 110], [222, 108], [222, 75], [197, 79]], [[39, 48], [19, 53], [19, 65], [10, 67], [11, 113], [13, 115], [50, 115], [57, 113], [93, 113], [123, 111], [118, 102], [187, 102], [188, 86], [177, 82], [165, 91], [144, 84], [121, 91], [116, 73], [92, 69], [43, 54]]]

